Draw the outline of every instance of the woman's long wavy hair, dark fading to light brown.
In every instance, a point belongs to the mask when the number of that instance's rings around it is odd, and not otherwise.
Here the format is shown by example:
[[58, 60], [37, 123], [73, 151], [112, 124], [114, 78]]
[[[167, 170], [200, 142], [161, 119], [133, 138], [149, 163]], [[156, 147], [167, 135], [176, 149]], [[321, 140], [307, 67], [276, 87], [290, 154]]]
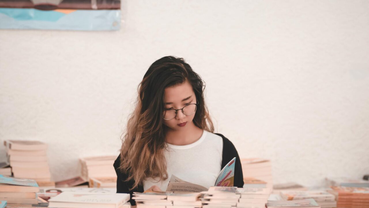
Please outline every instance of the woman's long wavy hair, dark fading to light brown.
[[164, 150], [166, 126], [163, 124], [165, 88], [188, 81], [196, 95], [197, 110], [193, 123], [210, 132], [214, 125], [204, 102], [205, 83], [183, 58], [166, 56], [155, 61], [138, 85], [138, 99], [122, 134], [120, 170], [134, 180], [131, 189], [143, 185], [146, 178], [166, 180]]

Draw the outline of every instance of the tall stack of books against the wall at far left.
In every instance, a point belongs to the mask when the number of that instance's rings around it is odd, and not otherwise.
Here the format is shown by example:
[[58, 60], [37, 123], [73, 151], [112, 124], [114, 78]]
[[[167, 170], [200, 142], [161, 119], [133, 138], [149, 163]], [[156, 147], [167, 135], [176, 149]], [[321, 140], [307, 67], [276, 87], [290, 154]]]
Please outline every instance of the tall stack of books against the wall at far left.
[[5, 140], [7, 158], [17, 178], [36, 180], [39, 186], [55, 185], [51, 181], [46, 150], [47, 145], [40, 141]]

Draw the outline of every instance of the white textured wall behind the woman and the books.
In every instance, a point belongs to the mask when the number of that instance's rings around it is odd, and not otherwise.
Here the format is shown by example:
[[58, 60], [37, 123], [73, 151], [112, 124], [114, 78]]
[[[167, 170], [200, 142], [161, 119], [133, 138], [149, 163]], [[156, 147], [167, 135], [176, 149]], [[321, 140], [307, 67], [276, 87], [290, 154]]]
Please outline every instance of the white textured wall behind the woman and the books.
[[[116, 32], [0, 30], [0, 140], [49, 144], [56, 181], [118, 154], [163, 56], [206, 81], [217, 132], [275, 182], [369, 173], [369, 1], [123, 0]], [[0, 159], [5, 159], [0, 147]]]

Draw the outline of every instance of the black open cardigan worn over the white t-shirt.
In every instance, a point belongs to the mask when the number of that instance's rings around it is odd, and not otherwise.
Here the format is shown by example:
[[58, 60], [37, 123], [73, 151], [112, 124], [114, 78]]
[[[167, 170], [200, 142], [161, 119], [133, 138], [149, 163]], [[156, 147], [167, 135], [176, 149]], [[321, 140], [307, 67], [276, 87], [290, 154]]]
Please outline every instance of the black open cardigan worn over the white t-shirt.
[[[217, 133], [215, 133], [217, 134]], [[221, 169], [224, 168], [225, 165], [229, 161], [231, 161], [234, 157], [236, 157], [235, 163], [235, 173], [234, 173], [234, 186], [236, 187], [243, 187], [244, 186], [244, 177], [242, 175], [242, 167], [241, 161], [239, 160], [238, 152], [232, 142], [225, 138], [222, 134], [217, 134], [223, 138], [223, 154], [222, 154], [222, 166]], [[131, 205], [136, 205], [136, 202], [132, 199], [133, 192], [144, 192], [144, 186], [139, 185], [137, 188], [130, 190], [133, 187], [134, 180], [125, 181], [127, 179], [127, 174], [121, 172], [120, 169], [120, 155], [118, 156], [117, 160], [114, 162], [114, 169], [117, 173], [117, 193], [127, 193], [131, 195]]]

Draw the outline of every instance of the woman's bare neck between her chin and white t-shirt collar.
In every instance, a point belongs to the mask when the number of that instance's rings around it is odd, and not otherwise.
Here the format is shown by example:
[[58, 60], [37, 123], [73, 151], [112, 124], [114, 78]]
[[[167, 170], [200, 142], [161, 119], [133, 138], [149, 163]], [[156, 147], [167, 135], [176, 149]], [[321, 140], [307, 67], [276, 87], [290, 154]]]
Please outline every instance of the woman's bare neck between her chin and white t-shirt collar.
[[203, 130], [191, 122], [187, 128], [183, 128], [180, 131], [168, 128], [165, 135], [165, 142], [173, 145], [188, 145], [199, 140], [202, 134]]

